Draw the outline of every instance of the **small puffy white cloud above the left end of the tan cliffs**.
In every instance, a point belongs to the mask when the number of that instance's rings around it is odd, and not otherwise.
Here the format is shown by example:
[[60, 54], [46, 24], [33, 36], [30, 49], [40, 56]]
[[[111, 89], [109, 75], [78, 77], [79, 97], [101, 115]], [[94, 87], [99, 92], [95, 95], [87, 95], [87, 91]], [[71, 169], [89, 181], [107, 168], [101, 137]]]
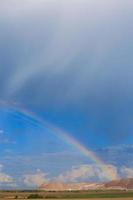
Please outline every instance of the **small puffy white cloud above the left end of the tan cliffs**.
[[34, 174], [26, 174], [24, 175], [24, 184], [32, 187], [32, 186], [40, 186], [44, 182], [47, 182], [48, 179], [46, 178], [46, 173], [37, 170]]

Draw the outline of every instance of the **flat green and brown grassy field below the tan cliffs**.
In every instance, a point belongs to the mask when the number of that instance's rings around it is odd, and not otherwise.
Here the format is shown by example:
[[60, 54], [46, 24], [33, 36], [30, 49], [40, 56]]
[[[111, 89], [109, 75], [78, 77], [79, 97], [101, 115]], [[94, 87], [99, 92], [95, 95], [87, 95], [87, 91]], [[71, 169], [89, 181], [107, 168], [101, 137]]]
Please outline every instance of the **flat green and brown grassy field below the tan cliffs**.
[[0, 199], [120, 199], [133, 200], [131, 191], [75, 191], [75, 192], [44, 192], [44, 191], [1, 191]]

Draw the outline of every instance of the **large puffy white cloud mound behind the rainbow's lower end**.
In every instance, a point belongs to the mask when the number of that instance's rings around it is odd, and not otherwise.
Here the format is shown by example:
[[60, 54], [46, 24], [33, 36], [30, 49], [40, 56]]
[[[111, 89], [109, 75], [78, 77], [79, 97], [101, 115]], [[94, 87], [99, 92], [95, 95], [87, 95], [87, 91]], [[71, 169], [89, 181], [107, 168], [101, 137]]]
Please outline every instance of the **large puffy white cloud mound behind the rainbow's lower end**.
[[[112, 180], [118, 178], [117, 168], [115, 166], [105, 165], [104, 168], [106, 168], [106, 172], [108, 171]], [[105, 181], [108, 180], [108, 175], [97, 165], [81, 165], [60, 174], [56, 180], [60, 182], [78, 182], [85, 180]]]

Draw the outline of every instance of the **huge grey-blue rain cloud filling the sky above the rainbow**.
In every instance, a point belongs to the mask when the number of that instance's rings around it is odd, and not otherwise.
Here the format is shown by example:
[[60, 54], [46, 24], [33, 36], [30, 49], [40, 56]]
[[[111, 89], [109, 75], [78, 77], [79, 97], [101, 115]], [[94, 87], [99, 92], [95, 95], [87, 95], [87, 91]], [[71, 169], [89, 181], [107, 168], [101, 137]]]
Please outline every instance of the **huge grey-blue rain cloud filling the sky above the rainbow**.
[[76, 107], [95, 132], [130, 135], [132, 8], [128, 0], [0, 3], [1, 98]]

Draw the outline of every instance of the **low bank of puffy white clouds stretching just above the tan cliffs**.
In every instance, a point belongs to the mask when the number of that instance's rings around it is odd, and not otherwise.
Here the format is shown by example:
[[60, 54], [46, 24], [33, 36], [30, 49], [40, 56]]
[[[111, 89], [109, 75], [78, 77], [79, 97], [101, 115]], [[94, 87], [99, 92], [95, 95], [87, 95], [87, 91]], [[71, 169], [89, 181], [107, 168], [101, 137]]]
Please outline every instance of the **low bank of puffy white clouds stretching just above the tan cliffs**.
[[[112, 180], [120, 178], [133, 178], [133, 168], [126, 166], [117, 168], [113, 165], [106, 165]], [[47, 177], [47, 178], [46, 178]], [[57, 177], [48, 178], [48, 175], [40, 170], [33, 174], [24, 175], [24, 184], [28, 187], [39, 187], [47, 182], [78, 183], [78, 182], [106, 182], [108, 177], [97, 165], [79, 165], [68, 171], [59, 174]]]

